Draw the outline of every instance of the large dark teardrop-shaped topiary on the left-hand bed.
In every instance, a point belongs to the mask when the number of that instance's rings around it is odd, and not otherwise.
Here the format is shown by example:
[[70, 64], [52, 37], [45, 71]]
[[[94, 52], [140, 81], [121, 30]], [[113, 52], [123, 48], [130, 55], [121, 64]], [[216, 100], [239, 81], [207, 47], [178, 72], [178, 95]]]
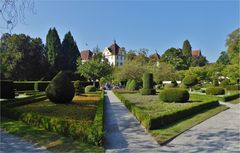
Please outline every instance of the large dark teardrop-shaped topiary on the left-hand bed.
[[46, 88], [47, 97], [54, 103], [71, 102], [74, 92], [73, 83], [63, 71], [60, 71]]

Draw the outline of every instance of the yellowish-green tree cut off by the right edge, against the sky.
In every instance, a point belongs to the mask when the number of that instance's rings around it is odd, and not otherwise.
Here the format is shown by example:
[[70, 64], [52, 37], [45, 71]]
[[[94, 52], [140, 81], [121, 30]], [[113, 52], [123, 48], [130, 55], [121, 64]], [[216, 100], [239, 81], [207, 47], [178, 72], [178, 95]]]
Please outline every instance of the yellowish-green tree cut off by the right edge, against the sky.
[[239, 64], [240, 60], [240, 28], [228, 35], [226, 40], [227, 53], [232, 64]]

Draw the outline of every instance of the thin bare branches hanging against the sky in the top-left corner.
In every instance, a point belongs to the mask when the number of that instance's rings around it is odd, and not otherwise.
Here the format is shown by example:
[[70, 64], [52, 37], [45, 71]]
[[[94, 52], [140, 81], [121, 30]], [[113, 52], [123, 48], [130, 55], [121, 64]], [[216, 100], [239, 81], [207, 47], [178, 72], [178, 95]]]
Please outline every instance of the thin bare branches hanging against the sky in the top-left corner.
[[11, 31], [18, 22], [25, 23], [26, 10], [33, 12], [33, 0], [2, 0], [0, 6], [1, 29]]

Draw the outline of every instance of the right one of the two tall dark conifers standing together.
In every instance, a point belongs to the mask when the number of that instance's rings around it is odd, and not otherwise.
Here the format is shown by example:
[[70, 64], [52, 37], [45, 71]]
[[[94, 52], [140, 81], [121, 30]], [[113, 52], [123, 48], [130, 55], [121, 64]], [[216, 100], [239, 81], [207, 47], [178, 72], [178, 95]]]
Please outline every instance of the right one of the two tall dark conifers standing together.
[[77, 69], [77, 59], [80, 56], [77, 44], [73, 39], [71, 32], [65, 34], [62, 42], [62, 52], [64, 55], [65, 65], [62, 67], [63, 70], [76, 71]]

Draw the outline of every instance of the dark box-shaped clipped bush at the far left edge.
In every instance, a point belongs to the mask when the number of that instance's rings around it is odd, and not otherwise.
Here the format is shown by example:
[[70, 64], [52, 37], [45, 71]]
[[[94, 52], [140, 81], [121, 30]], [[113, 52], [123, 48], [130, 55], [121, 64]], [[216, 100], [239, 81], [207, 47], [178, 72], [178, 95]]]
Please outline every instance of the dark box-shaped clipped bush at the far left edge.
[[13, 89], [13, 81], [12, 80], [0, 80], [1, 84], [1, 99], [13, 99], [15, 98], [15, 93]]

